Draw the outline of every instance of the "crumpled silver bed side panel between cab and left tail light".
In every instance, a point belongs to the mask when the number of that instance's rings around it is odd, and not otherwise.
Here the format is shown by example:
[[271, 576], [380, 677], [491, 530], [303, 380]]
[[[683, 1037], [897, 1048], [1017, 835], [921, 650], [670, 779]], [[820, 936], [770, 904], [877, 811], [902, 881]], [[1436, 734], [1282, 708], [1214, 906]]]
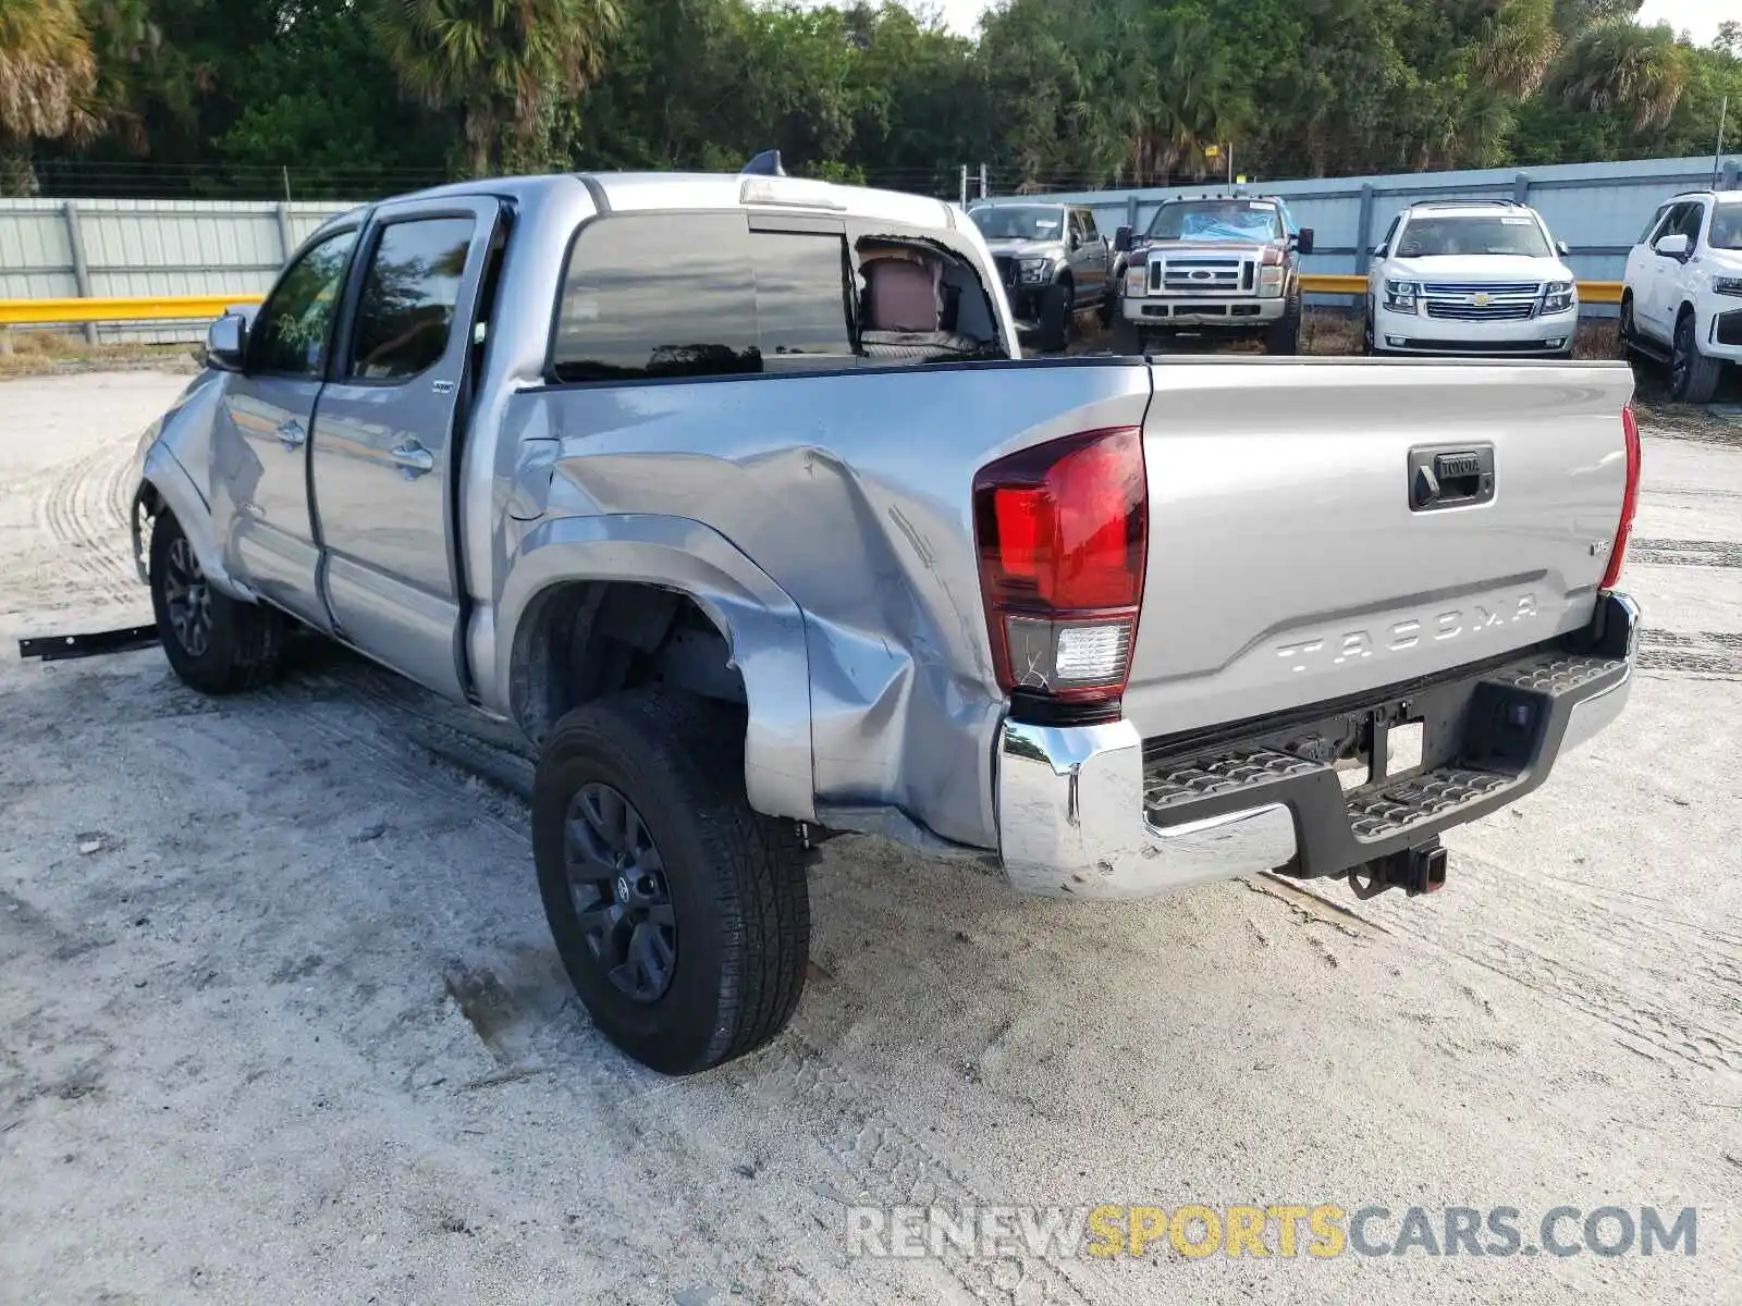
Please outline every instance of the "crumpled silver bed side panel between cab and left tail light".
[[711, 526], [803, 611], [819, 811], [895, 808], [991, 848], [996, 684], [972, 482], [1012, 449], [1143, 421], [1117, 359], [552, 387], [549, 514]]

